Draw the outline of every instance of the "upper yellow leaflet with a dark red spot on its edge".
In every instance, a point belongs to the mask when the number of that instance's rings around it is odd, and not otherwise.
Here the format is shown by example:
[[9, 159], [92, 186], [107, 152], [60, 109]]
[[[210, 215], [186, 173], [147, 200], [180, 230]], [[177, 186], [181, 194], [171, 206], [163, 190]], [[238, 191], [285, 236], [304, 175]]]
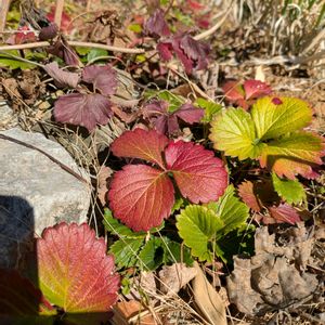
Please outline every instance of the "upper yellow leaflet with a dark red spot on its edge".
[[257, 138], [264, 141], [304, 128], [312, 119], [312, 109], [299, 99], [266, 96], [252, 105], [251, 117]]

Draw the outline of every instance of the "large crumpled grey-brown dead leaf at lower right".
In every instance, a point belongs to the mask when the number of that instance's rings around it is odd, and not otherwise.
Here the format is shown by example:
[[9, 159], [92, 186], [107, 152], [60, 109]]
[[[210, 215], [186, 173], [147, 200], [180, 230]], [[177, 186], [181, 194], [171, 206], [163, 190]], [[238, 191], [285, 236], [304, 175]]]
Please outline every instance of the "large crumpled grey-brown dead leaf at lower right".
[[258, 229], [256, 255], [234, 257], [234, 271], [227, 277], [230, 301], [243, 313], [263, 315], [310, 300], [318, 286], [316, 275], [304, 271], [313, 240], [303, 225], [288, 229], [276, 242], [268, 226]]

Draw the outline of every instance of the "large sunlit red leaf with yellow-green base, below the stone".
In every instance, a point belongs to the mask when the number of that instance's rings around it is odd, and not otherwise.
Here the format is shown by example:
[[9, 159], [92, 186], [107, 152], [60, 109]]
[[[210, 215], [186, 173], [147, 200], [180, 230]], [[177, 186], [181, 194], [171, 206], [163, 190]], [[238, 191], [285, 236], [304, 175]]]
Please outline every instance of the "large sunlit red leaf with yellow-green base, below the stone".
[[[87, 223], [62, 222], [37, 239], [39, 286], [66, 313], [107, 316], [117, 300], [119, 275], [106, 244]], [[84, 322], [83, 322], [84, 323]]]

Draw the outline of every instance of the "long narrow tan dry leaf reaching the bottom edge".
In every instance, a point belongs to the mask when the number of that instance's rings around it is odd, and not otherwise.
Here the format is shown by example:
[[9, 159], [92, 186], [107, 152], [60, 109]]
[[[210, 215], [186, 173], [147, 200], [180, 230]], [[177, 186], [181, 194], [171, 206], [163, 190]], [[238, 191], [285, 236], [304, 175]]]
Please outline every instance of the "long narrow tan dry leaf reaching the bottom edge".
[[225, 307], [216, 289], [208, 282], [197, 262], [193, 280], [194, 300], [209, 324], [226, 325]]

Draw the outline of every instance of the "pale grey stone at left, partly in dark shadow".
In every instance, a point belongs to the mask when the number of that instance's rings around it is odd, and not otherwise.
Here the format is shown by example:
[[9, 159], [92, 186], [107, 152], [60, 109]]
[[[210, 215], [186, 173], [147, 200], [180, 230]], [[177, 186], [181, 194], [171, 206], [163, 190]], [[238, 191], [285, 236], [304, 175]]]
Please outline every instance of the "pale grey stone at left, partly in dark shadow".
[[46, 152], [88, 182], [43, 153], [0, 138], [0, 266], [12, 268], [30, 234], [39, 236], [61, 221], [86, 221], [91, 193], [89, 177], [60, 144], [20, 129], [0, 134]]

